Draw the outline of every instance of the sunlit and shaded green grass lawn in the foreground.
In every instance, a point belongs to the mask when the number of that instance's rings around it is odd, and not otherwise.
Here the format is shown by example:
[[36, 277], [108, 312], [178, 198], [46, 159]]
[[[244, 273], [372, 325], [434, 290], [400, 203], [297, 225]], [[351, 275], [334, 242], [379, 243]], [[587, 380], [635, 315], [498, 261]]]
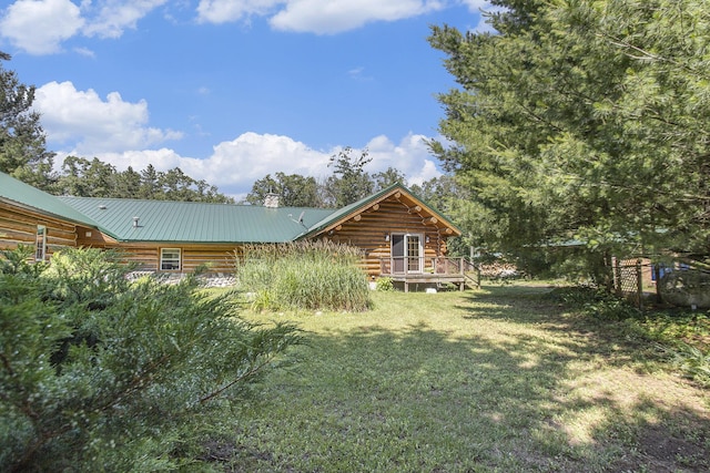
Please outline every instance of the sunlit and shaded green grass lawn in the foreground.
[[[710, 393], [538, 287], [375, 292], [296, 320], [300, 361], [223, 419], [227, 471], [710, 470]], [[642, 354], [642, 356], [641, 356]]]

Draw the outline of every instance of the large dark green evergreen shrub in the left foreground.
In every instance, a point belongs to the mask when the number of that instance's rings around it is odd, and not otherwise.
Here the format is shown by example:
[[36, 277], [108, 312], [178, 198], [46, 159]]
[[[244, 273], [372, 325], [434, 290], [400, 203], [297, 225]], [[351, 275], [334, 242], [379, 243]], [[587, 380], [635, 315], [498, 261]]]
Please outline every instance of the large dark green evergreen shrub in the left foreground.
[[[0, 257], [0, 470], [174, 469], [171, 442], [242, 399], [300, 341], [189, 278], [130, 282], [100, 250]], [[187, 438], [185, 438], [187, 435]]]

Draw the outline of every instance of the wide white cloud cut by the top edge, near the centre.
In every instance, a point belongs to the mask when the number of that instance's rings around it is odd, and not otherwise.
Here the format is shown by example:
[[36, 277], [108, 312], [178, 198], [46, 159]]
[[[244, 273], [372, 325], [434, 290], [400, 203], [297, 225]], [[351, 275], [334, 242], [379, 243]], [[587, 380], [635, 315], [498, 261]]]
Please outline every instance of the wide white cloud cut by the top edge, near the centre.
[[277, 30], [334, 34], [373, 21], [396, 21], [440, 10], [437, 0], [291, 0], [271, 18]]

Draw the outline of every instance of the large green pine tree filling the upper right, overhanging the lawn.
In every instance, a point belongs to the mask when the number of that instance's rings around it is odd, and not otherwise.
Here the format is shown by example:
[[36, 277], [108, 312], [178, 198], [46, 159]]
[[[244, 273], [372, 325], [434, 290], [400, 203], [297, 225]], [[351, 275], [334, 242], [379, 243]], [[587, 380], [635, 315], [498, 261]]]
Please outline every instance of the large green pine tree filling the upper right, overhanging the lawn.
[[453, 144], [430, 145], [470, 189], [477, 237], [710, 255], [708, 3], [491, 3], [499, 33], [429, 38], [459, 84], [439, 96]]

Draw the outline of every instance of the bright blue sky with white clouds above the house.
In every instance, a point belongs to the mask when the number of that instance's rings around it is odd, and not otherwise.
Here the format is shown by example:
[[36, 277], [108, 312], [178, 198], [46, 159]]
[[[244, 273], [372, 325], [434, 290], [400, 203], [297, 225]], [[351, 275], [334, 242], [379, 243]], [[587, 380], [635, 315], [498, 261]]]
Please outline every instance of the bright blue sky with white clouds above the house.
[[455, 84], [432, 24], [481, 31], [485, 0], [17, 0], [6, 69], [37, 86], [48, 147], [181, 167], [237, 198], [285, 172], [325, 177], [344, 146], [409, 184], [439, 174], [435, 95]]

